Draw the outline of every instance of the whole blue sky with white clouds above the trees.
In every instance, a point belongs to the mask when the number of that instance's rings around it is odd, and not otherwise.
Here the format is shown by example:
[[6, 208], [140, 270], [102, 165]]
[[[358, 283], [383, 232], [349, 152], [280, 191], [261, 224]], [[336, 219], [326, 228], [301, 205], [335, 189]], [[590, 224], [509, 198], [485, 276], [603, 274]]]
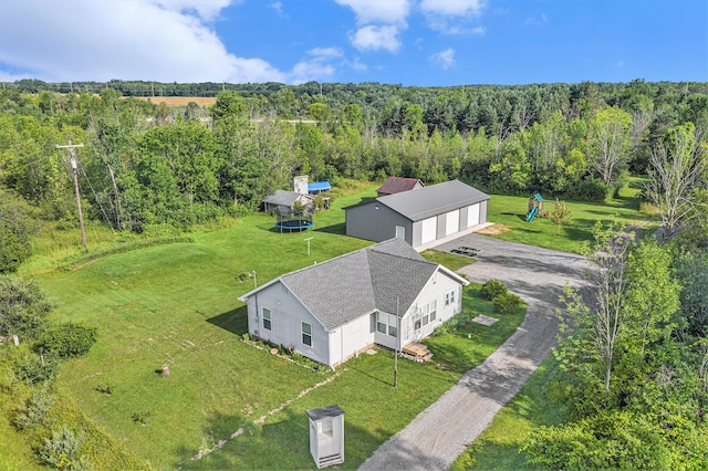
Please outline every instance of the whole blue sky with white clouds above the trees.
[[0, 82], [708, 82], [707, 0], [7, 0]]

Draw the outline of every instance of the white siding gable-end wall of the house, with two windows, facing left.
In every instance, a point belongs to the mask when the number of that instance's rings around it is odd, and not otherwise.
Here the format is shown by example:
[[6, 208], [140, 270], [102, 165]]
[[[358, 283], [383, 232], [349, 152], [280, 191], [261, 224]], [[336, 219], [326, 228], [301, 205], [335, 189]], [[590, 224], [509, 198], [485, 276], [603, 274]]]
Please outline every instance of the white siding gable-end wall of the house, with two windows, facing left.
[[[270, 331], [263, 327], [263, 307], [271, 312]], [[302, 343], [303, 321], [312, 325], [312, 346]], [[308, 358], [330, 365], [329, 333], [280, 282], [248, 299], [248, 332], [273, 344], [290, 345]]]

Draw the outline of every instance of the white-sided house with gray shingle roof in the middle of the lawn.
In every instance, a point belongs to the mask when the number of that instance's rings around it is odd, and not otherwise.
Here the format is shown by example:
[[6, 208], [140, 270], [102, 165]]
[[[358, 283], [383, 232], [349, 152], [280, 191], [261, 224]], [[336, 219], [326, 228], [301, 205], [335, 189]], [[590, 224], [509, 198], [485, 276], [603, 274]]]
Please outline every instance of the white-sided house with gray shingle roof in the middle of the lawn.
[[374, 344], [402, 349], [462, 308], [467, 280], [392, 239], [283, 274], [242, 296], [248, 331], [336, 367]]

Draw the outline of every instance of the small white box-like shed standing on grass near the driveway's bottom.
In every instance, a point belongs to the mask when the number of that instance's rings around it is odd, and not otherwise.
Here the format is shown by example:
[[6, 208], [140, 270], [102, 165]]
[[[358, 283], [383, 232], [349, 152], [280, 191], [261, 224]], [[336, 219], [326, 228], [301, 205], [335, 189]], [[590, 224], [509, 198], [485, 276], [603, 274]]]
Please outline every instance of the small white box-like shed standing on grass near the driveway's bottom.
[[344, 410], [340, 406], [308, 409], [310, 453], [317, 469], [344, 462]]

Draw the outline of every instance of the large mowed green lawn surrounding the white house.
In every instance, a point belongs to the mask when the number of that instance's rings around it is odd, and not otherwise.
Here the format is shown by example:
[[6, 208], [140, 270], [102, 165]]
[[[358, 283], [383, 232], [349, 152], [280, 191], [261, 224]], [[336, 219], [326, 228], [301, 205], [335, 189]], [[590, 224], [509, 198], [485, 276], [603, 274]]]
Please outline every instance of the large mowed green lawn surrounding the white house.
[[[346, 411], [342, 468], [358, 467], [523, 318], [521, 313], [492, 327], [475, 326], [475, 342], [467, 331], [433, 339], [434, 358], [441, 365], [398, 362], [397, 388], [394, 357], [386, 350], [361, 355], [336, 371], [314, 373], [243, 343], [246, 310], [238, 296], [253, 287], [253, 279], [239, 282], [241, 275], [254, 271], [262, 284], [368, 245], [343, 236], [342, 208], [374, 196], [376, 187], [335, 192], [332, 209], [317, 213], [315, 229], [305, 233], [280, 233], [272, 217], [253, 214], [195, 231], [194, 243], [115, 253], [75, 270], [52, 271], [33, 261], [38, 282], [56, 303], [53, 316], [98, 327], [91, 353], [62, 367], [60, 387], [113, 440], [158, 469], [311, 469], [304, 410], [337, 404]], [[525, 198], [507, 198], [492, 202], [521, 203], [519, 212], [525, 211]], [[589, 214], [600, 219], [615, 209], [598, 205], [597, 213]], [[506, 211], [492, 203], [489, 219], [512, 218]], [[631, 209], [626, 214], [627, 220], [642, 217]], [[508, 226], [507, 237], [528, 229]], [[558, 248], [569, 238], [551, 229], [540, 231], [535, 242]], [[308, 255], [304, 239], [310, 237]], [[579, 229], [572, 244], [591, 238]], [[51, 247], [45, 250], [51, 253]], [[448, 263], [456, 268], [460, 259]], [[489, 314], [477, 290], [466, 291], [466, 310]], [[169, 366], [169, 376], [159, 374], [163, 365]]]

